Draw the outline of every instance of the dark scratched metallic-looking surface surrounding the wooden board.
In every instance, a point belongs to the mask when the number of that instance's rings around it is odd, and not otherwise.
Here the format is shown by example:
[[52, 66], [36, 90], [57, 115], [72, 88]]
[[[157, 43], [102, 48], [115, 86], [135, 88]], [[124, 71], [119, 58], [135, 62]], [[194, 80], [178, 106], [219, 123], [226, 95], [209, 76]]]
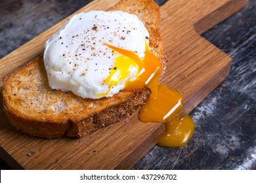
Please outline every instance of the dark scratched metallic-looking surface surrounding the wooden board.
[[[89, 2], [0, 0], [0, 58]], [[133, 169], [256, 169], [256, 1], [202, 36], [232, 57], [230, 75], [190, 113], [186, 147], [155, 146]]]

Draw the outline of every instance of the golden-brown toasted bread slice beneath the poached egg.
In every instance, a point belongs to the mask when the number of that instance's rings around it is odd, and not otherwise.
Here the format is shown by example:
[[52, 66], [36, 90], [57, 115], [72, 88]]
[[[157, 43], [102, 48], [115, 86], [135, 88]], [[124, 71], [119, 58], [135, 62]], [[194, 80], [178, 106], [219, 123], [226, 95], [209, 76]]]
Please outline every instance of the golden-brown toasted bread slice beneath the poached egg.
[[[122, 0], [110, 10], [136, 14], [150, 33], [150, 48], [165, 67], [160, 37], [159, 7], [151, 0]], [[113, 97], [83, 99], [72, 92], [49, 87], [43, 56], [33, 59], [3, 80], [3, 106], [11, 124], [49, 139], [82, 137], [90, 131], [114, 124], [138, 110], [150, 89], [119, 92]]]

